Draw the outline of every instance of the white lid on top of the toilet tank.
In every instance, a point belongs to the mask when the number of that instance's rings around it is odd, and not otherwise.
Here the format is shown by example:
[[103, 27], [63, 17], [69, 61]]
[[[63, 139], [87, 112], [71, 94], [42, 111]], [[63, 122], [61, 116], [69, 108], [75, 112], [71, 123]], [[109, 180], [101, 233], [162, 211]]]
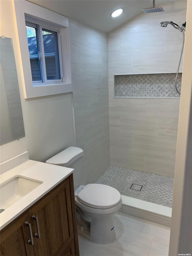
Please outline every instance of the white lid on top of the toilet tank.
[[72, 164], [76, 159], [83, 156], [83, 150], [78, 147], [69, 147], [57, 155], [54, 155], [52, 158], [49, 158], [46, 163], [47, 164], [56, 164], [62, 165], [64, 167], [68, 167]]

